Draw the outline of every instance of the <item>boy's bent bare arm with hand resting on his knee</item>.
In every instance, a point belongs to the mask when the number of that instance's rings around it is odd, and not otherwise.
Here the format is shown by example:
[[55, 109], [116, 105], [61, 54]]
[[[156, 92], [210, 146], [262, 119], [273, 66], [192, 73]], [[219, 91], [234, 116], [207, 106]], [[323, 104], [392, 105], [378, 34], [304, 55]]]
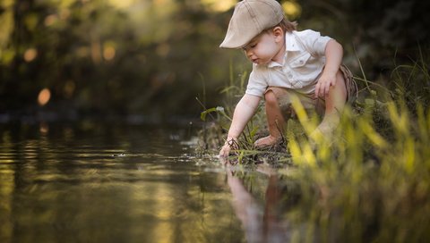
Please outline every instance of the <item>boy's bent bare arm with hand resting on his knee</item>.
[[325, 67], [315, 86], [315, 96], [327, 96], [331, 86], [336, 84], [336, 73], [342, 63], [343, 48], [334, 39], [325, 46]]

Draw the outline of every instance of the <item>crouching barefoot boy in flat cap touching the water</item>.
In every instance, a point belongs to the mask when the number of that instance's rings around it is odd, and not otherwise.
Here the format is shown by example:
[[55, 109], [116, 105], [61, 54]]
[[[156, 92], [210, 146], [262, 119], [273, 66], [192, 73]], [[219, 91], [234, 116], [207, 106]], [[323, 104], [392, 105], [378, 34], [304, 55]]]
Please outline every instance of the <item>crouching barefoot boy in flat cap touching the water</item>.
[[314, 135], [328, 138], [348, 99], [357, 96], [350, 71], [341, 65], [342, 46], [314, 30], [296, 31], [296, 26], [296, 22], [287, 21], [275, 0], [236, 4], [219, 47], [242, 48], [254, 64], [245, 95], [236, 105], [226, 143], [219, 151], [221, 159], [236, 148], [236, 140], [262, 96], [270, 135], [255, 141], [255, 147], [269, 147], [280, 141], [285, 119], [292, 113], [289, 97], [298, 96], [306, 109], [323, 111], [323, 121]]

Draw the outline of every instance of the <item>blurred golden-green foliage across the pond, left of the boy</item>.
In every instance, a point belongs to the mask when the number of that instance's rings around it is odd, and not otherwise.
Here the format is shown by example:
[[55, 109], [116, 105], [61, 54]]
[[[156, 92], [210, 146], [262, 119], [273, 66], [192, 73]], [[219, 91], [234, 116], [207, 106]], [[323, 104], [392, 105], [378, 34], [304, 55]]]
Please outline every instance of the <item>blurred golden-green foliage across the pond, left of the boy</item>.
[[39, 91], [49, 88], [43, 109], [67, 116], [199, 111], [201, 76], [211, 77], [209, 99], [228, 72], [218, 63], [229, 54], [217, 54], [227, 13], [194, 1], [133, 3], [3, 2], [10, 31], [0, 38], [0, 110], [38, 111]]

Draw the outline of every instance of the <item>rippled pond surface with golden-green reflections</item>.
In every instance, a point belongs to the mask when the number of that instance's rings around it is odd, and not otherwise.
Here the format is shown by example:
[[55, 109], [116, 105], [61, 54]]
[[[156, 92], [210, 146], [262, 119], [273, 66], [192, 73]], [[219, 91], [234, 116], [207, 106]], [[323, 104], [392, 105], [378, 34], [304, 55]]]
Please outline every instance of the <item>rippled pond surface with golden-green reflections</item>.
[[214, 158], [196, 156], [189, 128], [43, 124], [0, 131], [1, 242], [288, 236], [270, 168], [237, 176]]

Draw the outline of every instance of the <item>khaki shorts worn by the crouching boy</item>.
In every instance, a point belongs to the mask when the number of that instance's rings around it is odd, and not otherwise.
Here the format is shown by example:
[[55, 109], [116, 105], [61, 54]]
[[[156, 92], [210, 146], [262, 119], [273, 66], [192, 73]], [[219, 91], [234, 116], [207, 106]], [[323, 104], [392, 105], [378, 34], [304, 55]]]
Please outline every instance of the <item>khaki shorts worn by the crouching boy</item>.
[[[353, 78], [352, 72], [349, 71], [347, 66], [340, 65], [340, 71], [343, 74], [345, 87], [347, 88], [347, 103], [352, 104], [358, 95], [357, 83]], [[315, 79], [314, 83], [318, 81], [320, 76], [321, 74]], [[292, 88], [268, 87], [265, 93], [269, 91], [272, 91], [278, 99], [280, 110], [284, 114], [285, 119], [295, 116], [294, 110], [291, 107], [291, 96], [297, 96], [306, 110], [314, 110], [319, 115], [324, 114], [325, 100], [323, 97], [315, 98], [314, 92], [310, 94], [304, 94], [300, 92], [300, 89], [297, 90]]]

